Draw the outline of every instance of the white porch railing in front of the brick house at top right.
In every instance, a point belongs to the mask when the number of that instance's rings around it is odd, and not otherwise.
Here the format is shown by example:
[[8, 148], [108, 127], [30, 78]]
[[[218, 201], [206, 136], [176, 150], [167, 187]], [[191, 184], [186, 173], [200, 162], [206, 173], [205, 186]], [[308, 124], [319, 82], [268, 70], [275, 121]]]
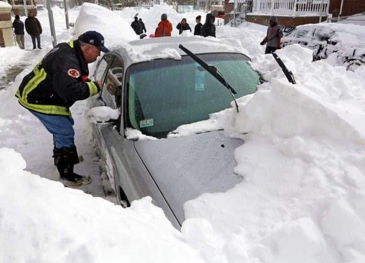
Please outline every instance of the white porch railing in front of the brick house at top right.
[[328, 14], [330, 0], [253, 0], [252, 12], [275, 15]]

